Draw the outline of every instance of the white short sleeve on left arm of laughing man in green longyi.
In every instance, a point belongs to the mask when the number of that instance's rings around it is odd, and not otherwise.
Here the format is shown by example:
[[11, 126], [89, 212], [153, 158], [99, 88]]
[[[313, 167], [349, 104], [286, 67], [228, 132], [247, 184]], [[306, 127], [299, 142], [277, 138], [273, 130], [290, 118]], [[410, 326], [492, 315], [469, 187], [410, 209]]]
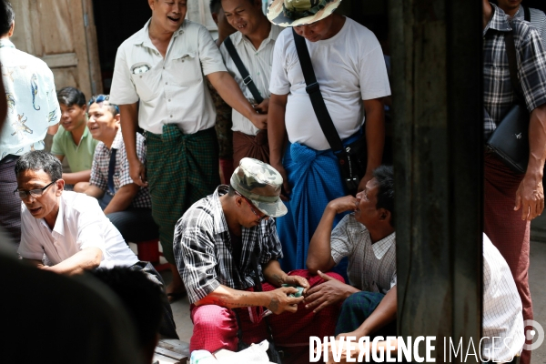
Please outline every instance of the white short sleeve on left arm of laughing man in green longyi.
[[116, 105], [135, 104], [138, 101], [135, 85], [131, 80], [131, 71], [126, 62], [125, 45], [117, 48], [114, 76], [110, 88], [110, 102]]

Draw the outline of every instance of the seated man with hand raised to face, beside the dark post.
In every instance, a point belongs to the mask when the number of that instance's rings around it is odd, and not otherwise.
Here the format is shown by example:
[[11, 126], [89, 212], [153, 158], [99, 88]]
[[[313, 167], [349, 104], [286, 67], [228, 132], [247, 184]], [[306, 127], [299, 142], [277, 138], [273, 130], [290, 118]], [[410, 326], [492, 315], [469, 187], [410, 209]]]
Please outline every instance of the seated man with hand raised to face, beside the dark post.
[[[331, 230], [334, 217], [345, 211]], [[330, 233], [331, 231], [331, 233]], [[374, 170], [373, 178], [357, 197], [329, 202], [309, 243], [307, 266], [311, 274], [333, 268], [349, 258], [349, 285], [329, 279], [308, 291], [305, 303], [315, 312], [343, 302], [336, 334], [359, 329], [359, 336], [396, 334], [396, 243], [394, 232], [394, 178], [392, 167]]]

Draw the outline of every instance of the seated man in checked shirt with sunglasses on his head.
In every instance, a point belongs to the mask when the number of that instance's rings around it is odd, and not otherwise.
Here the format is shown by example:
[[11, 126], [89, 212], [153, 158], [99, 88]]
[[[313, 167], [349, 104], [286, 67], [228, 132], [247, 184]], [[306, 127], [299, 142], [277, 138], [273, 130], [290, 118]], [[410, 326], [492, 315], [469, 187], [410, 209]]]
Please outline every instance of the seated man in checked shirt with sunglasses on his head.
[[[139, 187], [129, 176], [126, 147], [119, 127], [119, 110], [108, 102], [108, 96], [94, 96], [87, 105], [87, 126], [99, 143], [89, 185], [75, 187], [96, 197], [106, 217], [119, 230], [126, 241], [147, 241], [159, 236], [152, 217], [152, 202], [147, 187]], [[136, 153], [146, 163], [144, 136], [136, 133]]]

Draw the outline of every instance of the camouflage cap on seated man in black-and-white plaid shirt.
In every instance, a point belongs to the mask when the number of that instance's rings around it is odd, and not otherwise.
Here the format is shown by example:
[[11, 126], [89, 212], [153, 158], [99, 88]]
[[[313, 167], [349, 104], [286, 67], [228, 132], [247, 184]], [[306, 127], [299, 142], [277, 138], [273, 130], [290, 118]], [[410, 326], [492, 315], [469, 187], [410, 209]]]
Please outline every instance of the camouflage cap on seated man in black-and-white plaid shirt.
[[230, 180], [239, 194], [247, 197], [258, 210], [270, 217], [281, 217], [288, 212], [280, 200], [282, 177], [277, 169], [258, 159], [243, 158]]

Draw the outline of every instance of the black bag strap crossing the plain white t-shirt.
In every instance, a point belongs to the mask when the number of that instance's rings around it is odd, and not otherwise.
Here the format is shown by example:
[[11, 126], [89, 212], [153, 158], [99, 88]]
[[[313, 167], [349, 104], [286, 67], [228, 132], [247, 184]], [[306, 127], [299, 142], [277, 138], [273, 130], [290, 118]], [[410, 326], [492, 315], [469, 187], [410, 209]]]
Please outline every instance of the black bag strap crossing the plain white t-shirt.
[[320, 93], [319, 83], [317, 82], [315, 71], [313, 70], [313, 64], [311, 63], [308, 47], [305, 44], [305, 38], [298, 35], [294, 31], [294, 28], [292, 28], [292, 34], [294, 35], [296, 51], [298, 52], [299, 65], [301, 66], [305, 84], [307, 85], [305, 90], [311, 99], [311, 104], [313, 105], [317, 119], [319, 119], [320, 128], [334, 153], [344, 151], [345, 149], [343, 148], [343, 143], [339, 137], [338, 130], [336, 130], [336, 126], [334, 126], [334, 122], [329, 116], [328, 108]]

